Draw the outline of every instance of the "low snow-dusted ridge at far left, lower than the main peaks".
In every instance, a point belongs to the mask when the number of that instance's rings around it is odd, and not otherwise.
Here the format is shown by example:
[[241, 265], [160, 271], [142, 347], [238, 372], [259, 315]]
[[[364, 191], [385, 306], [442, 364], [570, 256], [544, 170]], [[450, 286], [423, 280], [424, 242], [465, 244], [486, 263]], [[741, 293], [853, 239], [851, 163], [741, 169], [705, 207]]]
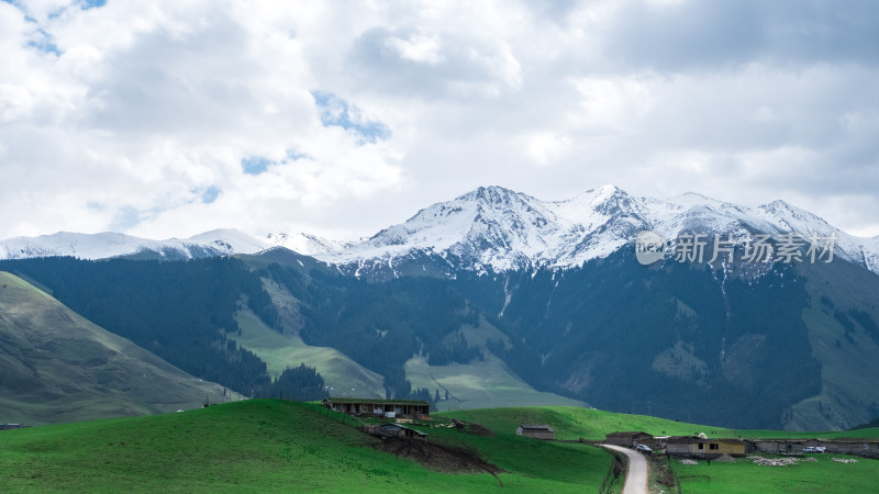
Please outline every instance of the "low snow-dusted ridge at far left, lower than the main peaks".
[[38, 237], [15, 237], [0, 242], [0, 259], [73, 256], [105, 259], [149, 256], [167, 259], [254, 254], [269, 247], [236, 229], [214, 229], [190, 238], [151, 240], [119, 233], [78, 234], [59, 232]]

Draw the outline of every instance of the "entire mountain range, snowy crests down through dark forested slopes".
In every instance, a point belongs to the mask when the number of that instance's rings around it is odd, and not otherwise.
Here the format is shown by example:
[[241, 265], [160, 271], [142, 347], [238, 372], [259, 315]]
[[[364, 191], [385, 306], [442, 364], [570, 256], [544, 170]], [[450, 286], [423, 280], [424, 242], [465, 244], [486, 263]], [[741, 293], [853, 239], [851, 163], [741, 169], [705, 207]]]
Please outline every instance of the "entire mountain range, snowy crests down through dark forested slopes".
[[[667, 240], [649, 266], [636, 260], [643, 231]], [[688, 237], [705, 242], [703, 259], [682, 257]], [[786, 262], [794, 237], [800, 258]], [[716, 238], [730, 244], [712, 260]], [[746, 260], [755, 239], [768, 261]], [[0, 243], [0, 270], [244, 394], [268, 382], [263, 359], [441, 408], [569, 400], [788, 429], [879, 416], [879, 237], [782, 201], [607, 186], [546, 202], [490, 187], [360, 242], [55, 234]]]

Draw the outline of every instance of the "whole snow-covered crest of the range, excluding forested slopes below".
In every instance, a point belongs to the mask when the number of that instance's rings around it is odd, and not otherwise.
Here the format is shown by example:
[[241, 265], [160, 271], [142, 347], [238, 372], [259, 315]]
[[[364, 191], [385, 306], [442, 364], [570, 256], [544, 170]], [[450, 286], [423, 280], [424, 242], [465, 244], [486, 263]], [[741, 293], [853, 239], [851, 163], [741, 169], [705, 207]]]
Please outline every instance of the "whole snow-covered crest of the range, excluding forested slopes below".
[[[501, 187], [479, 188], [419, 211], [360, 242], [336, 242], [305, 233], [251, 237], [215, 229], [186, 239], [148, 240], [118, 233], [57, 233], [0, 242], [0, 259], [74, 256], [82, 259], [137, 257], [190, 259], [255, 254], [275, 246], [360, 274], [400, 276], [414, 261], [476, 272], [571, 268], [632, 245], [642, 231], [674, 240], [680, 234], [749, 235], [806, 242], [834, 236], [834, 255], [879, 273], [879, 236], [860, 238], [785, 201], [746, 207], [696, 193], [668, 200], [635, 198], [604, 186], [566, 201], [542, 201]], [[448, 265], [445, 267], [444, 265]], [[422, 266], [426, 270], [425, 266]]]

